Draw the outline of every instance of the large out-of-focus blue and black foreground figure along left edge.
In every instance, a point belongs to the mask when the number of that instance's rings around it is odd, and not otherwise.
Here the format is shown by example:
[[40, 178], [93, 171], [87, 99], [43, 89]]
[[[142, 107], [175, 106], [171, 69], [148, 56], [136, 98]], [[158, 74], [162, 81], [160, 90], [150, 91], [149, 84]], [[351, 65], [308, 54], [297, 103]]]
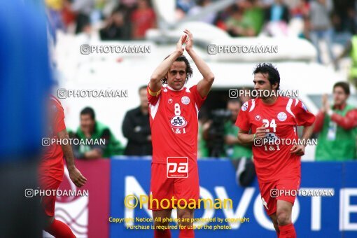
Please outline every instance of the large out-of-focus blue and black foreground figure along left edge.
[[[41, 237], [38, 162], [52, 75], [43, 1], [0, 1], [0, 236]], [[29, 27], [30, 26], [30, 27]]]

